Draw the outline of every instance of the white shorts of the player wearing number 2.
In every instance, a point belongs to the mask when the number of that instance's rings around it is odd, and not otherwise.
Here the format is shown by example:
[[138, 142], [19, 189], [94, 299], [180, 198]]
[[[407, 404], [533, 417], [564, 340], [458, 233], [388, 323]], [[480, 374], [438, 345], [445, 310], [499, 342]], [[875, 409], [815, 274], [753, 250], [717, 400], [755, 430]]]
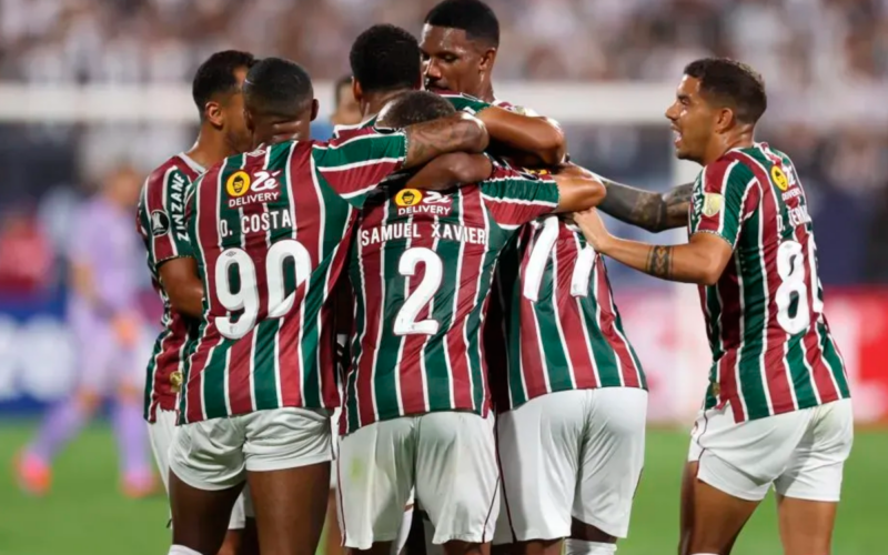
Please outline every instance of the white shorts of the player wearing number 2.
[[396, 539], [414, 486], [435, 544], [491, 541], [500, 477], [493, 416], [436, 412], [366, 425], [342, 437], [336, 470], [346, 547]]

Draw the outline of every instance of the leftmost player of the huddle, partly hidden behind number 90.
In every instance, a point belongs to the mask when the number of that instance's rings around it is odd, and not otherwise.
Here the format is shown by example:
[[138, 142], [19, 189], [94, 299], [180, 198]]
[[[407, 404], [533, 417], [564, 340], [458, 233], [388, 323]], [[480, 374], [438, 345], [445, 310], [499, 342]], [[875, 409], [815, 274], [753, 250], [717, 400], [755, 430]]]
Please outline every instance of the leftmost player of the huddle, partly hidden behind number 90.
[[[144, 416], [163, 485], [169, 491], [169, 451], [175, 431], [175, 402], [188, 357], [189, 336], [203, 313], [203, 283], [198, 278], [185, 225], [191, 183], [226, 157], [252, 147], [243, 118], [241, 85], [255, 63], [253, 54], [216, 52], [198, 69], [192, 98], [200, 112], [200, 134], [148, 176], [138, 210], [138, 228], [148, 252], [152, 283], [163, 301], [161, 331], [148, 364]], [[231, 513], [221, 553], [238, 553], [245, 525], [243, 497]]]

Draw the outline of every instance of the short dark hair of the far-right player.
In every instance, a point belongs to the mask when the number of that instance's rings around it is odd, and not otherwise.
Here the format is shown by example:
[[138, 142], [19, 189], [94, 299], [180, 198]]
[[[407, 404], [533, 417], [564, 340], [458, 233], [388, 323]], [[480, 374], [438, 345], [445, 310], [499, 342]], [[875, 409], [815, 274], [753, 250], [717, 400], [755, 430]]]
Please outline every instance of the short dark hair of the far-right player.
[[741, 123], [755, 124], [768, 108], [765, 81], [745, 63], [728, 58], [704, 58], [688, 63], [685, 74], [699, 79], [704, 95], [730, 105]]

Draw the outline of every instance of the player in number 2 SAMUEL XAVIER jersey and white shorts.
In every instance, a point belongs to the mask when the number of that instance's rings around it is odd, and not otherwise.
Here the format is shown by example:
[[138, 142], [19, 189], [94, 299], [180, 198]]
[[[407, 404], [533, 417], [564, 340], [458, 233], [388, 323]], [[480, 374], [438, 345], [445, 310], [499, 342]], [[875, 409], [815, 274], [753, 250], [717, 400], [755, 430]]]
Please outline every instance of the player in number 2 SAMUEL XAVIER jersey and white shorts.
[[[428, 92], [400, 97], [380, 124], [453, 113]], [[587, 175], [537, 178], [492, 164], [452, 193], [406, 189], [364, 209], [352, 245], [356, 295], [340, 444], [345, 545], [389, 553], [416, 500], [446, 553], [482, 553], [496, 519], [497, 464], [481, 342], [496, 259], [539, 215], [596, 204]], [[483, 179], [481, 179], [483, 178]], [[465, 178], [462, 178], [465, 179]]]

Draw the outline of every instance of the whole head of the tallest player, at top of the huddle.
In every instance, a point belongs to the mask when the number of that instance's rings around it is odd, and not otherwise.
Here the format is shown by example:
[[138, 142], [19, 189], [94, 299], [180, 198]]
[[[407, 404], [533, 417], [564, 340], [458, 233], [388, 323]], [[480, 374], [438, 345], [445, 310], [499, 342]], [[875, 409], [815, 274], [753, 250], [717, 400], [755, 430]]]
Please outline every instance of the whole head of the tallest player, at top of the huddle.
[[500, 22], [481, 0], [444, 0], [425, 17], [420, 48], [426, 88], [481, 97], [500, 48]]

